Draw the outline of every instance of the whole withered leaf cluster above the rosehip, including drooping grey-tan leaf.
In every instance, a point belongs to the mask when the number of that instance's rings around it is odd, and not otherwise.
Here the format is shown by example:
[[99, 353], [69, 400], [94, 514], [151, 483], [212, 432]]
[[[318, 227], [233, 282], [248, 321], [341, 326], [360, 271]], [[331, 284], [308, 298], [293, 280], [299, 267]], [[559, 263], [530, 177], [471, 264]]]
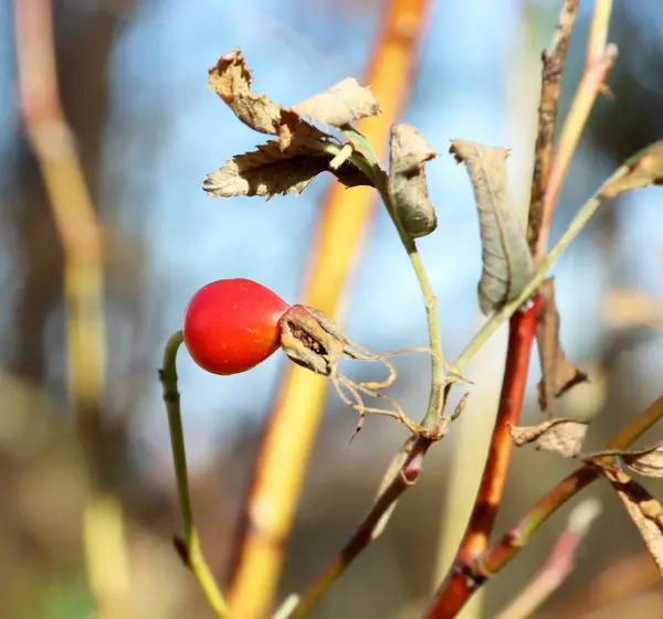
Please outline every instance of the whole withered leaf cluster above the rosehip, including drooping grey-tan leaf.
[[202, 186], [209, 195], [267, 200], [278, 194], [298, 195], [327, 171], [347, 188], [381, 183], [394, 217], [412, 238], [435, 230], [438, 218], [424, 172], [435, 151], [414, 127], [397, 125], [391, 131], [390, 173], [376, 164], [368, 154], [370, 147], [352, 127], [352, 122], [380, 114], [369, 88], [347, 77], [285, 107], [253, 92], [252, 82], [240, 50], [223, 55], [209, 71], [210, 88], [235, 116], [255, 131], [273, 136], [255, 151], [238, 154], [208, 174]]

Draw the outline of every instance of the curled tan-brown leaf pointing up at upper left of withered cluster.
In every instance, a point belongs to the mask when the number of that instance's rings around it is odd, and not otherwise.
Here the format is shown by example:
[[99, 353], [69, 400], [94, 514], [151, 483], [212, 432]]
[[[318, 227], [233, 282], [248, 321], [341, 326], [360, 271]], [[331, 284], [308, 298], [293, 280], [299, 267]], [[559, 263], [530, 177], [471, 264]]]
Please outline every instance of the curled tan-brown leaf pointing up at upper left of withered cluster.
[[253, 93], [251, 71], [240, 50], [232, 50], [219, 58], [209, 70], [209, 83], [242, 122], [261, 134], [278, 136], [282, 149], [287, 148], [294, 137], [329, 138], [295, 111]]

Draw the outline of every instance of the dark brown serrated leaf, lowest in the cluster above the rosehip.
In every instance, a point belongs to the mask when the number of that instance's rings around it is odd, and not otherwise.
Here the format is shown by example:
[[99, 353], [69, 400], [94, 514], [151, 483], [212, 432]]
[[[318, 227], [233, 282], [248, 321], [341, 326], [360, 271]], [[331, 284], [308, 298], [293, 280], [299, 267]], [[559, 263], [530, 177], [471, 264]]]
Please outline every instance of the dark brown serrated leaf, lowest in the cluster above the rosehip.
[[370, 184], [370, 181], [346, 162], [337, 170], [328, 168], [333, 156], [317, 140], [294, 140], [282, 150], [271, 140], [253, 152], [233, 157], [227, 164], [208, 174], [202, 183], [212, 198], [261, 195], [267, 200], [277, 194], [302, 193], [320, 172], [333, 172], [346, 186]]

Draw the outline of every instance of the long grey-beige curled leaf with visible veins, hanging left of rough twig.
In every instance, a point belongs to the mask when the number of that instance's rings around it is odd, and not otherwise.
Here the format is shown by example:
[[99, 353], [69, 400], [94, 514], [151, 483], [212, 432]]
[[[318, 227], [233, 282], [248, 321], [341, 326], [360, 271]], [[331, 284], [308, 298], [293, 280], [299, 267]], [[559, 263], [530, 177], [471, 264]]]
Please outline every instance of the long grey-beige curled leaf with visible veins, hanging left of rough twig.
[[483, 269], [478, 306], [498, 311], [529, 281], [534, 265], [525, 230], [507, 196], [505, 148], [453, 140], [450, 152], [467, 166], [481, 226]]

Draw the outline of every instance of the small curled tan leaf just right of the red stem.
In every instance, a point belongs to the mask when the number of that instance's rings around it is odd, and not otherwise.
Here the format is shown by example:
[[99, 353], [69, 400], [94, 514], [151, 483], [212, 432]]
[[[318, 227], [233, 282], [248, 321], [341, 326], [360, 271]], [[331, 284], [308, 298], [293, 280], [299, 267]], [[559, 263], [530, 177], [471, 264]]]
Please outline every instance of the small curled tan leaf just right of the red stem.
[[538, 426], [512, 426], [509, 431], [516, 447], [534, 442], [536, 449], [575, 458], [580, 453], [588, 427], [585, 420], [559, 418]]

